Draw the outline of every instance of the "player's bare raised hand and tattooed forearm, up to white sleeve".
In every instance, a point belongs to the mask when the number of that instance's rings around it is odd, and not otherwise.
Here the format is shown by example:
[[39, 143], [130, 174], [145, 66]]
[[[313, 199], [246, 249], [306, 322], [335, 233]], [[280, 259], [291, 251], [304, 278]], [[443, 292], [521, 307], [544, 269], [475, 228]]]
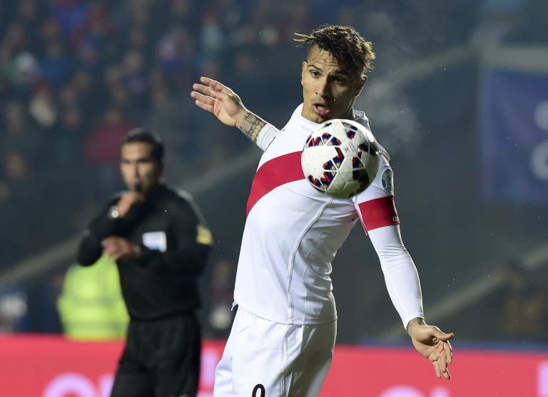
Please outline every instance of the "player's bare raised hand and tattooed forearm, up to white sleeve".
[[240, 97], [227, 86], [208, 77], [201, 77], [200, 81], [193, 84], [194, 91], [191, 92], [198, 108], [213, 113], [221, 123], [238, 128], [250, 140], [257, 142], [266, 121], [245, 108]]

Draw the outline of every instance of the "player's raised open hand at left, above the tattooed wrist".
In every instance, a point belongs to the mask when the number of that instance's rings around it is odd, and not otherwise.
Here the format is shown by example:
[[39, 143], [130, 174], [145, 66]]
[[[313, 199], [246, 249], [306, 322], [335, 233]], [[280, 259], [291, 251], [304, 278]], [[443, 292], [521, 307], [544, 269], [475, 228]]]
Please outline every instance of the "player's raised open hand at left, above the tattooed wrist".
[[227, 86], [208, 77], [201, 77], [200, 81], [201, 84], [193, 84], [191, 92], [198, 108], [213, 113], [230, 127], [235, 127], [249, 113], [240, 97]]

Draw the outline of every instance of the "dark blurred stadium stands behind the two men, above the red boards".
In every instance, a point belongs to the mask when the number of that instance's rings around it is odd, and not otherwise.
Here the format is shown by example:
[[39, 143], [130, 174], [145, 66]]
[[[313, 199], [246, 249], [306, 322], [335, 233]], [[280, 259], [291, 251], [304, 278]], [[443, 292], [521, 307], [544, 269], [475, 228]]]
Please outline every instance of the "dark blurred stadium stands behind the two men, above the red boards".
[[[338, 23], [375, 43], [357, 108], [392, 155], [428, 319], [455, 344], [546, 351], [546, 15], [543, 0], [0, 1], [0, 328], [60, 331], [62, 274], [122, 187], [117, 142], [136, 125], [166, 141], [168, 180], [213, 230], [209, 326], [260, 153], [193, 105], [191, 83], [218, 78], [281, 128], [301, 100], [293, 32]], [[333, 267], [338, 342], [405, 343], [359, 227]]]

